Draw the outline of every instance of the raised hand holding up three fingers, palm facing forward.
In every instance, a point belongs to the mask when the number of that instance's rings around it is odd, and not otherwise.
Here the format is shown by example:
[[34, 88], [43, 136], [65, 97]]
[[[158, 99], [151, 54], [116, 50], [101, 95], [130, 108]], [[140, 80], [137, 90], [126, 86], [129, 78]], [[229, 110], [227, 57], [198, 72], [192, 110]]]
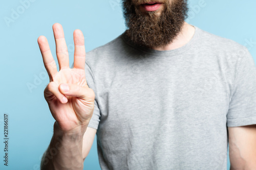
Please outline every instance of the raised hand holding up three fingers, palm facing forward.
[[50, 83], [44, 91], [45, 99], [56, 120], [55, 124], [61, 131], [85, 132], [94, 110], [95, 94], [87, 85], [84, 72], [86, 62], [84, 37], [80, 30], [74, 31], [74, 68], [70, 68], [68, 48], [59, 23], [53, 25], [53, 33], [59, 71], [46, 37], [40, 36], [37, 40], [50, 78]]

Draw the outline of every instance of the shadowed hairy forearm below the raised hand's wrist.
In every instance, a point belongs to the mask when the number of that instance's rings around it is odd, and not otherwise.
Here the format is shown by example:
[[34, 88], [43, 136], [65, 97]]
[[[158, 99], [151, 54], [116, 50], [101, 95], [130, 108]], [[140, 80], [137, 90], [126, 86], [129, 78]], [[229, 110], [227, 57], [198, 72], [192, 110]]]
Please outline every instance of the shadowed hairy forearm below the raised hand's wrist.
[[41, 169], [83, 169], [82, 140], [84, 131], [67, 134], [54, 124], [50, 145], [41, 160]]

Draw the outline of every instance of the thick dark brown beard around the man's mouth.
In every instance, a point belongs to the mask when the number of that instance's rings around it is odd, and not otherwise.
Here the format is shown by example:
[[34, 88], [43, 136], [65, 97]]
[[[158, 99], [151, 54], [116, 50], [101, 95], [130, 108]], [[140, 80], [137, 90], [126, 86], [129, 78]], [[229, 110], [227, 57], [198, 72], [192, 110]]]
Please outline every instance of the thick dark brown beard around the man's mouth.
[[159, 0], [163, 10], [158, 16], [155, 11], [141, 12], [140, 4], [151, 0], [123, 0], [125, 31], [133, 43], [148, 48], [167, 45], [177, 37], [187, 17], [187, 0]]

